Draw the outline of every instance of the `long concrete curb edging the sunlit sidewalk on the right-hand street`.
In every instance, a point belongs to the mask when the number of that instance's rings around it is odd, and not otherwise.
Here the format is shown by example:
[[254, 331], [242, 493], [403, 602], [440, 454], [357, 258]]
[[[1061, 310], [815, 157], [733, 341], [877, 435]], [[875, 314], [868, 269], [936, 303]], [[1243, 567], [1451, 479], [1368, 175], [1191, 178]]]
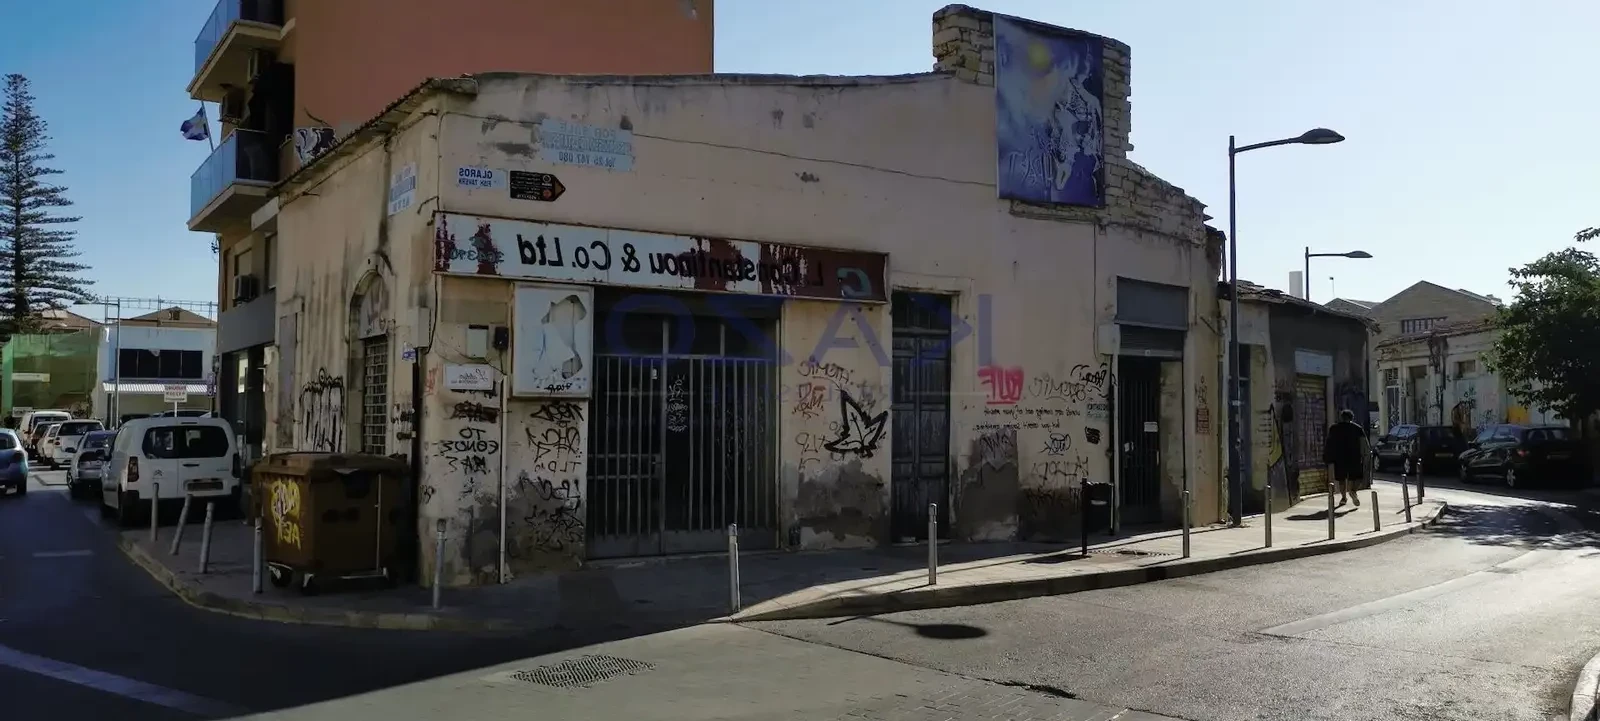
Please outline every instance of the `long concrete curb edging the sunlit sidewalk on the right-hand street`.
[[760, 612], [744, 612], [714, 619], [725, 623], [741, 623], [747, 620], [792, 620], [792, 619], [832, 619], [840, 615], [875, 615], [896, 611], [920, 611], [950, 606], [974, 606], [981, 603], [1016, 601], [1021, 598], [1058, 596], [1066, 593], [1091, 592], [1098, 588], [1115, 588], [1123, 585], [1149, 584], [1152, 580], [1181, 579], [1186, 576], [1210, 574], [1234, 568], [1258, 566], [1264, 563], [1290, 561], [1294, 558], [1320, 556], [1354, 548], [1365, 548], [1387, 540], [1410, 536], [1422, 528], [1432, 526], [1445, 515], [1448, 504], [1435, 500], [1438, 507], [1426, 518], [1405, 526], [1370, 532], [1360, 537], [1320, 542], [1312, 545], [1291, 545], [1262, 548], [1248, 553], [1202, 558], [1190, 561], [1173, 561], [1163, 566], [1144, 566], [1125, 571], [1104, 571], [1098, 574], [1074, 574], [1053, 579], [1026, 579], [998, 584], [957, 585], [944, 588], [917, 588], [912, 592], [862, 596], [821, 598], [810, 603], [798, 603], [781, 609]]

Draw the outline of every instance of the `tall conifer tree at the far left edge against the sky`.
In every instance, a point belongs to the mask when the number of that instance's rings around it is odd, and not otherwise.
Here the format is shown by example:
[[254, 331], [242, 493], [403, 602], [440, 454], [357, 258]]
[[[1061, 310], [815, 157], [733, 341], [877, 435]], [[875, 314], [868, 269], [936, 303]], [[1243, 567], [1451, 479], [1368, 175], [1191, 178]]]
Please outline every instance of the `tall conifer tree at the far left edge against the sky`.
[[56, 214], [69, 208], [67, 189], [50, 184], [59, 169], [43, 163], [50, 136], [34, 114], [34, 96], [22, 75], [5, 77], [0, 107], [0, 337], [29, 333], [40, 313], [94, 297], [90, 281], [78, 277], [88, 265], [72, 262], [74, 232], [64, 225], [77, 217]]

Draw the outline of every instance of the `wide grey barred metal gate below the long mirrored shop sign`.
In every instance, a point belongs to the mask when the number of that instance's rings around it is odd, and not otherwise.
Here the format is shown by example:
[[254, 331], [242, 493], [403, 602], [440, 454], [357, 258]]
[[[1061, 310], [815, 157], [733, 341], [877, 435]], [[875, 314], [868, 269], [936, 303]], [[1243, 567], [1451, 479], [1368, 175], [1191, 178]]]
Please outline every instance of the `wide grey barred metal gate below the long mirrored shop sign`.
[[595, 355], [589, 556], [723, 550], [731, 523], [742, 547], [776, 547], [776, 360], [734, 357], [750, 344], [715, 318], [597, 323], [618, 326], [634, 347]]

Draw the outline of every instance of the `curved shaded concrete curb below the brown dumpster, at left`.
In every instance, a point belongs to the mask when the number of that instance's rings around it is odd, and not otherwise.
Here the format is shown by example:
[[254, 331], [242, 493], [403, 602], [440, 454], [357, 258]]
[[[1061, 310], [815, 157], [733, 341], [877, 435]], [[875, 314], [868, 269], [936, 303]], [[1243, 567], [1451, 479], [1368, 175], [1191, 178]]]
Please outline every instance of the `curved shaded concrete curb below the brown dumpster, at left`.
[[398, 614], [379, 611], [344, 611], [331, 607], [296, 607], [280, 603], [248, 601], [224, 596], [189, 584], [162, 561], [150, 558], [150, 553], [131, 540], [126, 534], [117, 539], [117, 547], [128, 558], [150, 574], [158, 584], [173, 592], [189, 606], [242, 619], [274, 620], [278, 623], [333, 625], [346, 628], [382, 628], [392, 631], [526, 631], [534, 630], [502, 619], [466, 619], [434, 614]]

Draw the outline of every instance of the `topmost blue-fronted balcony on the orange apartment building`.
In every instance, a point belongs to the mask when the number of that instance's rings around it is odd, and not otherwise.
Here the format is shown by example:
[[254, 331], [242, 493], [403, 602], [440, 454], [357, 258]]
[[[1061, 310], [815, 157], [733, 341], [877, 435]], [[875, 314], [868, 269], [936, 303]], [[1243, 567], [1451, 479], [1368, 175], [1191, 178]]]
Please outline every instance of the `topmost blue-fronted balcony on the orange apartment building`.
[[278, 50], [282, 37], [283, 0], [219, 0], [195, 38], [189, 96], [221, 102], [229, 86], [248, 86], [253, 53]]

